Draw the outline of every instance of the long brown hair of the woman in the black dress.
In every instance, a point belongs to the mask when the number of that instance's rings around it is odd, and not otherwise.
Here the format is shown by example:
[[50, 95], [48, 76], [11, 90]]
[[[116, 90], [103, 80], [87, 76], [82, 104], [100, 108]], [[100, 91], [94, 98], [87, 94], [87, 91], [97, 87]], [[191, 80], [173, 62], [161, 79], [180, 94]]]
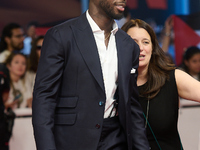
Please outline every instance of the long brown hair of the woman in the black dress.
[[127, 32], [132, 27], [145, 29], [151, 37], [152, 55], [148, 66], [148, 82], [144, 90], [139, 92], [141, 96], [152, 99], [169, 79], [169, 71], [175, 69], [175, 65], [159, 46], [156, 34], [149, 24], [140, 19], [130, 20], [123, 25], [122, 30]]

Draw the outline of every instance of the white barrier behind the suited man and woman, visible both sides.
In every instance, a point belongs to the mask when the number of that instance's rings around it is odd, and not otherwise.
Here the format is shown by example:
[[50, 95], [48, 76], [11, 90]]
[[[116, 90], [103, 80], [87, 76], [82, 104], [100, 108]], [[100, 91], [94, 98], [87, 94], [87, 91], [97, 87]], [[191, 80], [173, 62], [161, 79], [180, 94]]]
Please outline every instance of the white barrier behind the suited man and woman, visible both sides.
[[[15, 110], [17, 118], [10, 139], [10, 150], [36, 150], [32, 110], [20, 108]], [[200, 103], [181, 100], [178, 128], [184, 150], [200, 150]]]

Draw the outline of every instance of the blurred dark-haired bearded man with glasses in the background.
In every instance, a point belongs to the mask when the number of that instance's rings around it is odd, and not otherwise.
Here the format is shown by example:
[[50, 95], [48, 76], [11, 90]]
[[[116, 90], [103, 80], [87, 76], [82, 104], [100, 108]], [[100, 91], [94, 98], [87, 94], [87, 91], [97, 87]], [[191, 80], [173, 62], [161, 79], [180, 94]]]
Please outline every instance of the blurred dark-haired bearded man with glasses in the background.
[[12, 51], [20, 51], [24, 47], [24, 31], [16, 23], [6, 25], [0, 41], [0, 63], [4, 62]]

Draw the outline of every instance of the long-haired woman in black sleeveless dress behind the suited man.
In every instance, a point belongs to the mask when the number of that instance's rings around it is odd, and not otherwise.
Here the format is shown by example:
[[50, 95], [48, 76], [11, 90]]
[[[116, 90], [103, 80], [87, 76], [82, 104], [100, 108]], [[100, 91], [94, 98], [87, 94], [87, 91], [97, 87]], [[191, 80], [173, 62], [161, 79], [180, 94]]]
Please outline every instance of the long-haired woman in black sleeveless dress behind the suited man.
[[151, 149], [181, 150], [177, 130], [179, 96], [200, 102], [200, 82], [175, 69], [144, 21], [131, 20], [122, 30], [140, 47], [137, 85]]

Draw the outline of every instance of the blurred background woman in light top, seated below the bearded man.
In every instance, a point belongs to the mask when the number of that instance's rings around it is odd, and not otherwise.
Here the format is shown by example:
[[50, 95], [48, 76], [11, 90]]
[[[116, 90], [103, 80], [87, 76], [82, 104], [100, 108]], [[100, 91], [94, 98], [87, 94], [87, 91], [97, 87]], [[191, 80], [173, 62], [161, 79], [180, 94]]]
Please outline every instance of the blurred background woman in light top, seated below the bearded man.
[[31, 107], [32, 91], [29, 81], [24, 77], [26, 72], [26, 57], [21, 53], [11, 53], [5, 61], [10, 74], [10, 91], [6, 108]]

